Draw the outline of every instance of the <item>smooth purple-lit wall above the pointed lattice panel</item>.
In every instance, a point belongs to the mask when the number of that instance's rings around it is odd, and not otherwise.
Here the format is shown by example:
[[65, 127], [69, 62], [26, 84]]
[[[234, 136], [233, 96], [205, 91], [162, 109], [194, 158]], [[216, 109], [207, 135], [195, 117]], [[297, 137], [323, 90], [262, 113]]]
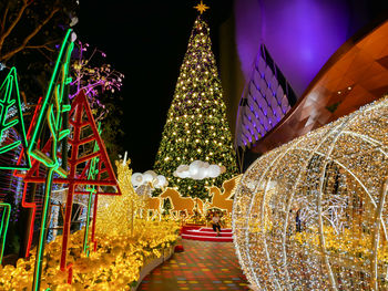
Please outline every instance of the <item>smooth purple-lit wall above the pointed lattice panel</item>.
[[363, 0], [236, 0], [235, 41], [245, 80], [249, 79], [263, 40], [300, 96], [331, 54], [368, 22], [366, 3]]

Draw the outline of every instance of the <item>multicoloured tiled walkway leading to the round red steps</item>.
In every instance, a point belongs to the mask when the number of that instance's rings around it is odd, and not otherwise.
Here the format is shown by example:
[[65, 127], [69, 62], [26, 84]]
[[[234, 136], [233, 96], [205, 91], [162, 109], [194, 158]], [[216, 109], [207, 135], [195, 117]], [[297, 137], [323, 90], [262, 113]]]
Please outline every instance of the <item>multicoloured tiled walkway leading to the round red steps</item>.
[[182, 240], [174, 253], [147, 274], [137, 291], [251, 290], [232, 242]]

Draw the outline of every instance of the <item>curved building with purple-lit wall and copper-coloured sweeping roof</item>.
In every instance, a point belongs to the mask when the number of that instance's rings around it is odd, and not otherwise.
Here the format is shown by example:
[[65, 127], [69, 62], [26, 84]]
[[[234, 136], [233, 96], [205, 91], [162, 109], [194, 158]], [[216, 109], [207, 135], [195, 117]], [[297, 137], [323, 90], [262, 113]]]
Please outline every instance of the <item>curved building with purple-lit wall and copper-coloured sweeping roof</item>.
[[387, 10], [386, 1], [234, 1], [221, 67], [242, 170], [388, 91]]

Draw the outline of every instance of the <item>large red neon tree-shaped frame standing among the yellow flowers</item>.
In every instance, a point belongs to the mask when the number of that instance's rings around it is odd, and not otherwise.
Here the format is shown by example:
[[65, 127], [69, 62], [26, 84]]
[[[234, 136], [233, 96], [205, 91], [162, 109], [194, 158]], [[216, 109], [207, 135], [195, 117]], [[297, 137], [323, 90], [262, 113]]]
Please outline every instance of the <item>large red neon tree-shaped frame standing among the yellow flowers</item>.
[[[69, 187], [65, 216], [63, 224], [63, 238], [62, 238], [62, 256], [61, 256], [61, 270], [64, 271], [67, 266], [67, 251], [68, 241], [70, 235], [71, 212], [73, 205], [73, 195], [86, 195], [89, 190], [84, 189], [89, 185], [94, 186], [113, 186], [116, 191], [105, 191], [101, 187], [96, 187], [95, 195], [121, 195], [120, 187], [118, 185], [112, 165], [109, 160], [108, 153], [103, 141], [98, 132], [94, 117], [90, 110], [88, 100], [83, 91], [73, 100], [69, 114], [70, 123], [70, 150], [68, 156], [68, 176], [54, 177], [54, 184], [67, 184]], [[51, 147], [52, 139], [49, 139], [42, 148], [42, 153], [47, 152]], [[98, 147], [94, 147], [94, 144]], [[92, 150], [96, 148], [96, 150]], [[61, 153], [58, 153], [59, 157], [62, 157]], [[63, 157], [62, 157], [63, 158]], [[91, 162], [98, 158], [98, 175], [94, 175], [94, 179], [91, 179], [88, 175]], [[24, 177], [25, 183], [44, 183], [44, 176], [39, 170], [40, 163], [34, 160], [31, 169]], [[96, 198], [94, 204], [96, 206]], [[93, 217], [93, 230], [94, 230], [94, 217]], [[92, 232], [94, 233], [94, 231]], [[92, 238], [93, 240], [94, 238]]]

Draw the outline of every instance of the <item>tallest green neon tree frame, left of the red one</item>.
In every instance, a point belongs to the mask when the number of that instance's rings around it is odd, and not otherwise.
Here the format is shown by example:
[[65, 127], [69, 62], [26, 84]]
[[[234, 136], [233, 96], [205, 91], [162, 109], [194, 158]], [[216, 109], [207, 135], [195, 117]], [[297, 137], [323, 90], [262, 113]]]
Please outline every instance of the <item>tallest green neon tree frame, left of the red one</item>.
[[[58, 145], [70, 133], [70, 131], [68, 129], [68, 125], [63, 123], [63, 119], [64, 114], [68, 114], [68, 112], [71, 108], [71, 106], [68, 104], [68, 85], [71, 82], [71, 79], [69, 79], [68, 75], [70, 66], [70, 56], [74, 45], [73, 42], [71, 42], [70, 40], [71, 32], [71, 30], [68, 30], [63, 40], [58, 61], [50, 81], [49, 90], [43, 101], [38, 117], [37, 126], [33, 131], [32, 138], [28, 148], [29, 155], [31, 155], [33, 158], [35, 158], [49, 168], [45, 178], [42, 220], [37, 248], [37, 261], [32, 285], [32, 289], [34, 291], [39, 291], [40, 288], [53, 174], [55, 172], [62, 177], [67, 177], [65, 169], [63, 169], [59, 163]], [[44, 122], [48, 123], [52, 137], [50, 156], [47, 156], [44, 153], [40, 152], [37, 145], [39, 133], [41, 133], [41, 127], [44, 126]]]

